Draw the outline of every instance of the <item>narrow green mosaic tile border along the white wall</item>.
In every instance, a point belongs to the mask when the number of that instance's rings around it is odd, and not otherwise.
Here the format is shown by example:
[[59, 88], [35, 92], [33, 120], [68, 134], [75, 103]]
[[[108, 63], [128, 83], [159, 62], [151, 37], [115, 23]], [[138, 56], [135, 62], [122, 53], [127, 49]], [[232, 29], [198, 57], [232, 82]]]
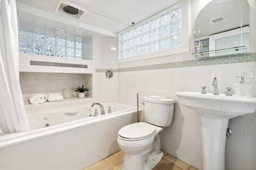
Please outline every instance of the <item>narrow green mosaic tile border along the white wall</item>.
[[[193, 67], [193, 66], [210, 66], [219, 64], [247, 63], [256, 62], [256, 53], [245, 53], [238, 55], [225, 55], [220, 57], [202, 58], [188, 61], [180, 61], [173, 63], [153, 64], [146, 66], [136, 66], [127, 68], [111, 69], [114, 72], [142, 71], [142, 70], [158, 70], [167, 68]], [[96, 68], [96, 72], [106, 72], [109, 69]]]

